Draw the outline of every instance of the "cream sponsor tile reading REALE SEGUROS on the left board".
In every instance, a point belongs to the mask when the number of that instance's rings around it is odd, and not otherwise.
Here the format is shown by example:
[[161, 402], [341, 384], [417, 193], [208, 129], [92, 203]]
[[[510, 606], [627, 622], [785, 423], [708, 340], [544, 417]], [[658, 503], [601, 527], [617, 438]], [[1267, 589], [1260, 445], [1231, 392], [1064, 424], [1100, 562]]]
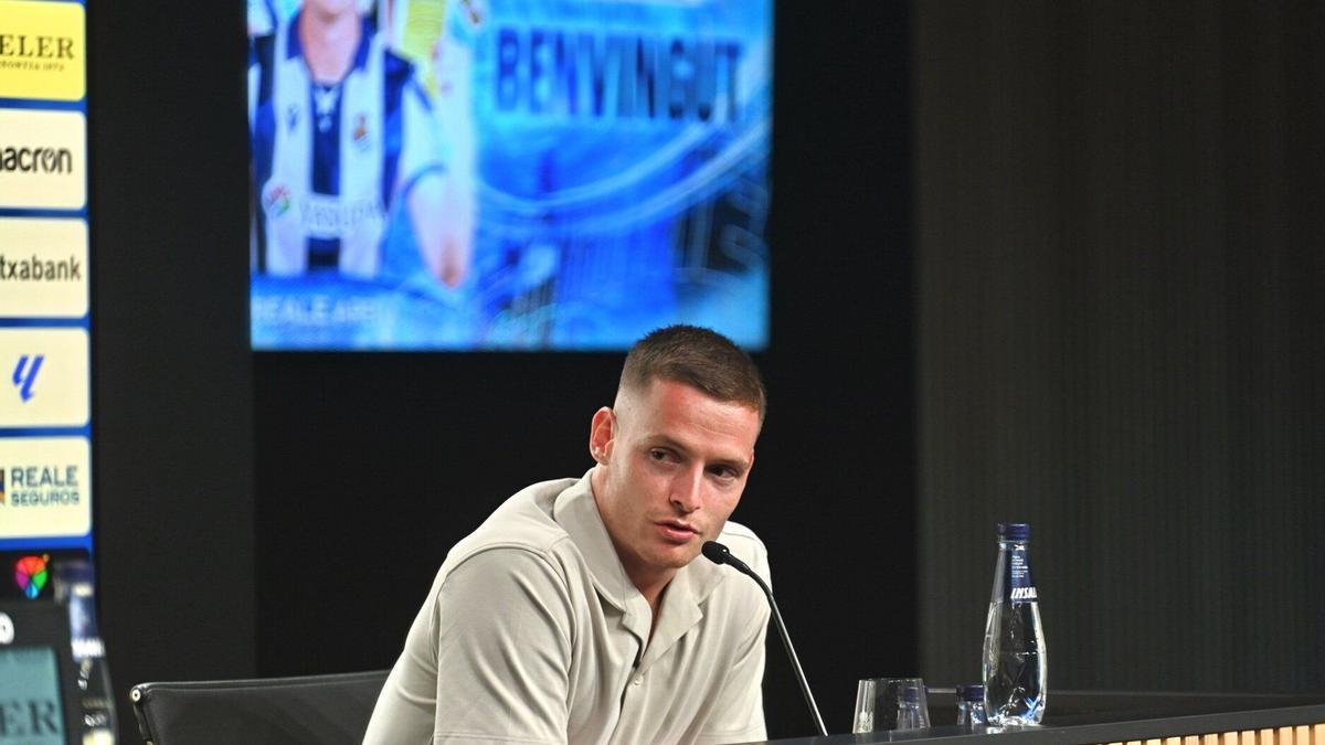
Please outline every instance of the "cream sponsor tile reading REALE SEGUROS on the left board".
[[0, 439], [0, 538], [83, 536], [91, 528], [90, 448], [83, 437]]

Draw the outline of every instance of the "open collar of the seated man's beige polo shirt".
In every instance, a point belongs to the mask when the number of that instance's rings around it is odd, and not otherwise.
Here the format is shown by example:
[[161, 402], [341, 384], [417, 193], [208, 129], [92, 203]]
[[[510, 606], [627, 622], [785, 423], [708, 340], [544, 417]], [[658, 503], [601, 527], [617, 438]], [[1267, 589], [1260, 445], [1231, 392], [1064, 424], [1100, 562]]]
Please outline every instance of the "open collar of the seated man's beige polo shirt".
[[641, 646], [647, 644], [640, 660], [643, 669], [704, 618], [701, 604], [730, 573], [721, 571], [718, 565], [704, 558], [681, 567], [662, 594], [661, 618], [651, 642], [649, 603], [631, 582], [621, 558], [616, 555], [616, 547], [598, 512], [598, 502], [594, 501], [590, 473], [592, 471], [558, 494], [553, 505], [553, 520], [566, 530], [584, 557], [599, 597], [621, 611], [621, 623], [640, 639]]

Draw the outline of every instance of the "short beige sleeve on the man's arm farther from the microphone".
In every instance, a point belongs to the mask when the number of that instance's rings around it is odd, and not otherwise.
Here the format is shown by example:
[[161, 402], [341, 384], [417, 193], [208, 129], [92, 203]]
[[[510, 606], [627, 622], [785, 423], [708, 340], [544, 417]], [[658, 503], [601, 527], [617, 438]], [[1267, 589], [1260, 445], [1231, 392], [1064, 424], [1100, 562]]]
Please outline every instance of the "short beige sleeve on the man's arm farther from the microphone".
[[551, 562], [481, 551], [448, 575], [433, 620], [436, 742], [566, 742], [572, 616]]

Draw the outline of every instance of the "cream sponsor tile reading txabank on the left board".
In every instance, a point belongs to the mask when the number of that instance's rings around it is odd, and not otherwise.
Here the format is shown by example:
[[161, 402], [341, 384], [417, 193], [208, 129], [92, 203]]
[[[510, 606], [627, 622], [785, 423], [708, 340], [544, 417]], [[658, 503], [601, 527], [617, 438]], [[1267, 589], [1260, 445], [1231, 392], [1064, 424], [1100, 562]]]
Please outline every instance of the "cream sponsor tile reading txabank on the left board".
[[0, 217], [0, 317], [87, 313], [87, 223]]

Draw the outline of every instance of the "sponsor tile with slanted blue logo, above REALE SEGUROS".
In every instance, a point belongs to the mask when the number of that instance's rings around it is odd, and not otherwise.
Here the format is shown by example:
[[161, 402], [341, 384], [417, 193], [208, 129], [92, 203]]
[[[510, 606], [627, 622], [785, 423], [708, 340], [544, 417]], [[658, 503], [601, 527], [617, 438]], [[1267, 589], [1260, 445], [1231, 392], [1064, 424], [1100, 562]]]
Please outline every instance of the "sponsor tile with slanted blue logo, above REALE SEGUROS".
[[87, 365], [83, 329], [0, 329], [0, 427], [86, 424]]

